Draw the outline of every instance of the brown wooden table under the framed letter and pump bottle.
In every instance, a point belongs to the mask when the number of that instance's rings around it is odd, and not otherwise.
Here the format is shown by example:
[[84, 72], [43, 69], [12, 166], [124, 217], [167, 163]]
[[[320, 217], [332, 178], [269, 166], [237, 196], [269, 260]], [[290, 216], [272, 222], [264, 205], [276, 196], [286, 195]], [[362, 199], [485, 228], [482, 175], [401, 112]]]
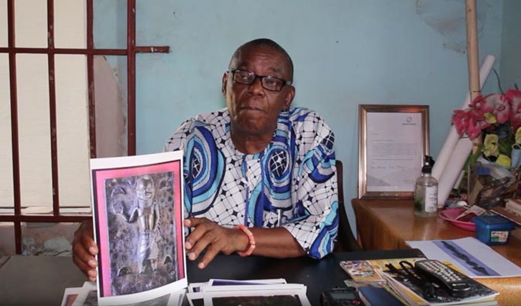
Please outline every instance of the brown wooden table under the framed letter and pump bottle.
[[[414, 215], [412, 200], [351, 200], [356, 214], [358, 242], [364, 250], [408, 248], [407, 240], [457, 239], [474, 236], [438, 217]], [[492, 246], [503, 257], [521, 266], [521, 240], [509, 237], [508, 243]], [[481, 283], [501, 292], [501, 305], [519, 305], [521, 277], [480, 278]]]

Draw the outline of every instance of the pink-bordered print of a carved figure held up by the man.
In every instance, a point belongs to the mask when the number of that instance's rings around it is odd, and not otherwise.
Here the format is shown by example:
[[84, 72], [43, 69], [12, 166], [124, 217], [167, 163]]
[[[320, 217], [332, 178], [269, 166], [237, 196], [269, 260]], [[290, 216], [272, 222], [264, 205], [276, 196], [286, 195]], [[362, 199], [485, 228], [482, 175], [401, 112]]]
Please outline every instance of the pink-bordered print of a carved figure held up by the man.
[[187, 287], [182, 152], [91, 159], [100, 305]]

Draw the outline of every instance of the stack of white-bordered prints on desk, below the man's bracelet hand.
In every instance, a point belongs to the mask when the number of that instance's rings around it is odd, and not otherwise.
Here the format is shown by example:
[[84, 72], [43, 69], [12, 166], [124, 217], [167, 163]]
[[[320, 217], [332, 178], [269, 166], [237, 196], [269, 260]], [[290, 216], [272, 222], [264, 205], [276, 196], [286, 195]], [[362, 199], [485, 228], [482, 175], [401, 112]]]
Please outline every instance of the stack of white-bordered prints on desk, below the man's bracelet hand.
[[207, 283], [192, 283], [188, 287], [190, 306], [228, 305], [311, 305], [306, 286], [287, 284], [285, 279], [210, 279]]

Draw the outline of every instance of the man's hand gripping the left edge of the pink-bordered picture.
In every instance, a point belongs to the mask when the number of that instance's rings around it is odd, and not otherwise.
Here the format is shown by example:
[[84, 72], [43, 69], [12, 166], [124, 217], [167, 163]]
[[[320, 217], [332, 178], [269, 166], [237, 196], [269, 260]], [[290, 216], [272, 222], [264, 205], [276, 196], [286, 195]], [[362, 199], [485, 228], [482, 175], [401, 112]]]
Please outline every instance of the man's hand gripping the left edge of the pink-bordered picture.
[[94, 258], [98, 252], [94, 242], [94, 232], [91, 221], [83, 221], [74, 233], [72, 241], [72, 261], [80, 268], [91, 282], [96, 281], [97, 261]]

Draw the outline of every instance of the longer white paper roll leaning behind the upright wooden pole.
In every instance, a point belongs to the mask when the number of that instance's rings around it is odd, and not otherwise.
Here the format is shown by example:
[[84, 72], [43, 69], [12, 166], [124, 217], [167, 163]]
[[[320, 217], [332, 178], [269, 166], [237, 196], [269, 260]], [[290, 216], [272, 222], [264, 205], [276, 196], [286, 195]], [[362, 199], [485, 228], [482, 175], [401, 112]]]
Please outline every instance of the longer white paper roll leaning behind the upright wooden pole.
[[[485, 81], [487, 80], [487, 77], [492, 70], [492, 66], [494, 66], [495, 57], [492, 55], [487, 55], [485, 59], [483, 59], [483, 62], [481, 63], [481, 68], [479, 69], [479, 85], [480, 87], [483, 87], [483, 84], [485, 84]], [[470, 104], [470, 94], [467, 93], [467, 97], [463, 101], [463, 105], [461, 106], [461, 109], [465, 109]], [[458, 142], [458, 139], [460, 139], [460, 135], [457, 134], [456, 128], [454, 128], [454, 125], [451, 125], [451, 129], [449, 132], [449, 136], [447, 136], [447, 139], [445, 140], [445, 143], [443, 144], [443, 147], [440, 150], [440, 153], [438, 154], [438, 158], [436, 159], [436, 163], [434, 164], [434, 167], [432, 167], [432, 176], [436, 177], [438, 180], [438, 185], [440, 183], [441, 174], [446, 168], [447, 162], [449, 161], [449, 158], [452, 155], [452, 151], [454, 151], [454, 148], [456, 147], [456, 143]], [[459, 169], [461, 170], [461, 168]], [[457, 176], [456, 176], [457, 178]], [[452, 186], [450, 186], [452, 188]], [[439, 188], [439, 187], [438, 187]], [[449, 189], [450, 192], [451, 189]], [[448, 194], [447, 194], [448, 195]], [[440, 202], [440, 196], [438, 191], [438, 203]], [[446, 198], [442, 201], [444, 203]], [[440, 207], [438, 205], [438, 207]], [[442, 206], [443, 207], [443, 206]]]

